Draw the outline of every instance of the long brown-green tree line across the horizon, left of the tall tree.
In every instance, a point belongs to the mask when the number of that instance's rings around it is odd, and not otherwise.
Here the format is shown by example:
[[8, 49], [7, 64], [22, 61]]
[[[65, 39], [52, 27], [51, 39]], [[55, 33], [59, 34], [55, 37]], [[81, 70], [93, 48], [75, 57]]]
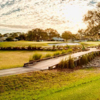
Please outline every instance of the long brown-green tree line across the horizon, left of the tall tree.
[[13, 39], [18, 40], [27, 40], [27, 41], [52, 41], [53, 37], [63, 38], [63, 39], [75, 39], [76, 35], [72, 34], [70, 31], [64, 31], [62, 35], [60, 35], [57, 30], [48, 28], [48, 29], [32, 29], [27, 33], [14, 32], [14, 33], [5, 33], [0, 34], [0, 37], [7, 37], [7, 41], [12, 41]]

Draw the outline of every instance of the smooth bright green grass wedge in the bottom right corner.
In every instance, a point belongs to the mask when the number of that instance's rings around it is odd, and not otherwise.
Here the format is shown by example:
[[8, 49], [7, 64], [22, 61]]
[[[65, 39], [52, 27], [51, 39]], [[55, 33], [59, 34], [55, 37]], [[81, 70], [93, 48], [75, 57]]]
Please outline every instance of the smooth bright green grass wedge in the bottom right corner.
[[60, 90], [39, 100], [100, 100], [100, 79], [82, 85]]

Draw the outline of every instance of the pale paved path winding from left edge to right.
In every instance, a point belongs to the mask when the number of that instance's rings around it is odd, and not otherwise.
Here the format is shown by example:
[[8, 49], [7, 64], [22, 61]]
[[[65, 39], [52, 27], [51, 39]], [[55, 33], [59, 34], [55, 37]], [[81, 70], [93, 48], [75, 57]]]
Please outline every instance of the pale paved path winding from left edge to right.
[[[87, 53], [92, 52], [92, 51], [100, 51], [100, 50], [97, 50], [96, 48], [90, 48], [89, 51], [74, 53], [71, 56], [72, 57], [79, 57], [81, 55], [87, 54]], [[26, 72], [32, 72], [32, 71], [47, 70], [48, 67], [56, 65], [62, 59], [65, 59], [65, 58], [68, 58], [68, 57], [69, 57], [69, 55], [58, 57], [58, 58], [53, 58], [53, 59], [48, 59], [48, 60], [45, 60], [45, 61], [38, 62], [35, 65], [28, 67], [28, 68], [27, 67], [20, 67], [20, 68], [11, 68], [11, 69], [0, 70], [0, 77], [1, 76], [21, 74], [21, 73], [26, 73]]]

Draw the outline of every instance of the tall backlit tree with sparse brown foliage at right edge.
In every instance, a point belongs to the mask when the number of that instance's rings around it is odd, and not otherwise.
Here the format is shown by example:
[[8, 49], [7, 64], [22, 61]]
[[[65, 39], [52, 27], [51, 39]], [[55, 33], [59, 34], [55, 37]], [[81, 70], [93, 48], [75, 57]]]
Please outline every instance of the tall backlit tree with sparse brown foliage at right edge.
[[85, 30], [85, 35], [94, 36], [100, 32], [100, 3], [97, 4], [97, 8], [88, 11], [84, 17], [84, 22], [88, 24]]

